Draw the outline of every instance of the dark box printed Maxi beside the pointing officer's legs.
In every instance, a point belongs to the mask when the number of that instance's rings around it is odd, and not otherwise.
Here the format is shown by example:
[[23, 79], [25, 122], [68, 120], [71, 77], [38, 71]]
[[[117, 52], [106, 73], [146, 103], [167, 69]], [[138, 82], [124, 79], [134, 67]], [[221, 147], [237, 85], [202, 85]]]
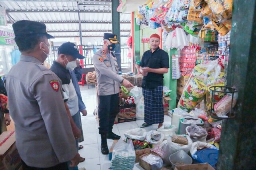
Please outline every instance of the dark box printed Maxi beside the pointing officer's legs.
[[119, 106], [119, 113], [117, 114], [118, 123], [136, 121], [136, 105]]

